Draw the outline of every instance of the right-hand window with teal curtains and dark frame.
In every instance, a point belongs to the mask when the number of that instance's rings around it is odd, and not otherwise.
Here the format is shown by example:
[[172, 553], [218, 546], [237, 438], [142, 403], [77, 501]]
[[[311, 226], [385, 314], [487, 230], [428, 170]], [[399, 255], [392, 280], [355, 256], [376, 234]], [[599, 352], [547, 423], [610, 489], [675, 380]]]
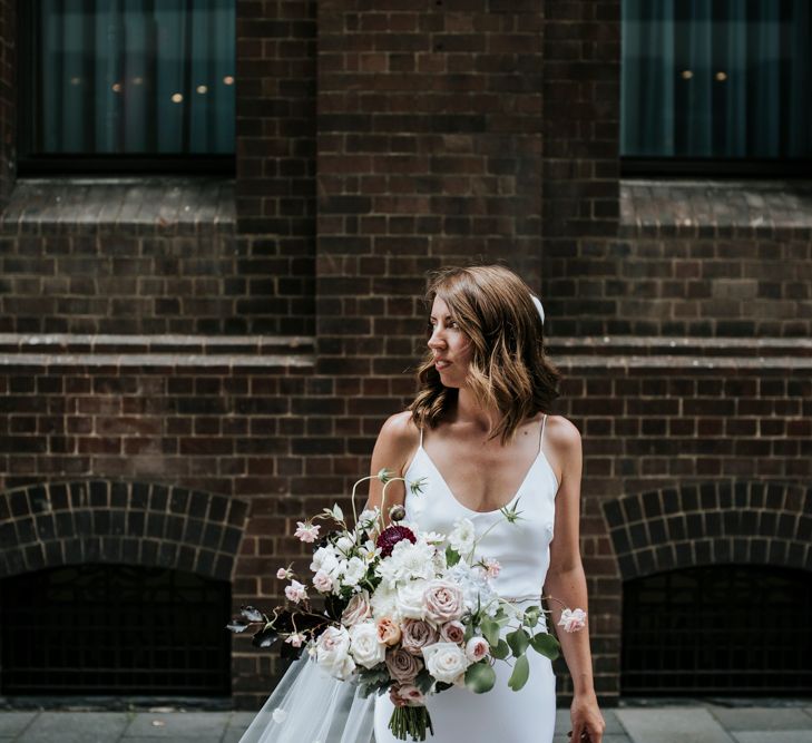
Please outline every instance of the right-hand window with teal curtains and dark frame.
[[624, 0], [624, 172], [809, 173], [809, 0]]

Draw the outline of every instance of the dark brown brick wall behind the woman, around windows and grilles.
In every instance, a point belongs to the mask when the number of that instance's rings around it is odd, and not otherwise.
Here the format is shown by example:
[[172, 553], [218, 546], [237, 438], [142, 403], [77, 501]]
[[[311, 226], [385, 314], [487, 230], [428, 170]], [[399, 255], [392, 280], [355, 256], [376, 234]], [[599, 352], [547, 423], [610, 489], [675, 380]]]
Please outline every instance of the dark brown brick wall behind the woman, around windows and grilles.
[[[618, 698], [625, 579], [708, 559], [811, 567], [809, 232], [757, 199], [722, 219], [695, 193], [622, 193], [619, 2], [237, 9], [229, 219], [186, 232], [180, 211], [162, 222], [163, 199], [140, 224], [88, 219], [72, 188], [48, 221], [20, 183], [3, 212], [0, 330], [40, 335], [0, 339], [14, 540], [0, 570], [126, 558], [144, 540], [133, 559], [231, 570], [235, 606], [273, 605], [276, 568], [306, 559], [295, 521], [345, 498], [414, 391], [425, 272], [472, 261], [509, 264], [545, 301], [557, 412], [584, 436], [603, 704]], [[126, 338], [71, 335], [99, 332]], [[45, 501], [94, 487], [107, 499], [77, 496], [89, 515], [71, 511], [70, 545], [40, 526]], [[95, 515], [140, 512], [145, 489], [163, 536], [110, 539]], [[176, 512], [173, 489], [197, 506]], [[250, 509], [238, 545], [226, 502], [237, 521]], [[256, 708], [278, 671], [236, 641], [235, 704]]]

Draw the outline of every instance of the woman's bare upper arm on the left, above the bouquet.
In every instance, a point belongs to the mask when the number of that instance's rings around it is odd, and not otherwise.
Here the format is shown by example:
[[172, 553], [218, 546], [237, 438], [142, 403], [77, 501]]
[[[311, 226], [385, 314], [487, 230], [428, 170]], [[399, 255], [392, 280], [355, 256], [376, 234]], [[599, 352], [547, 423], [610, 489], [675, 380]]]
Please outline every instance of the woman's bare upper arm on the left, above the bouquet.
[[[390, 416], [381, 427], [375, 447], [372, 450], [370, 475], [376, 476], [382, 469], [393, 477], [403, 477], [405, 465], [418, 446], [419, 432], [408, 410]], [[401, 480], [387, 486], [387, 500], [383, 502], [383, 487], [378, 477], [370, 480], [366, 508], [381, 508], [384, 522], [389, 525], [389, 510], [405, 500], [405, 486]]]

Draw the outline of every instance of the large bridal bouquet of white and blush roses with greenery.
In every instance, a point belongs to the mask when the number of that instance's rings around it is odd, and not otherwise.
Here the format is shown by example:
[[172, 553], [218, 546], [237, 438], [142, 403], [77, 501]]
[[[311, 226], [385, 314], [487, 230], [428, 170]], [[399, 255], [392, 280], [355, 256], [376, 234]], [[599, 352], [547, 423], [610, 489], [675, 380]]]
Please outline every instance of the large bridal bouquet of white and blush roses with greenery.
[[[387, 470], [373, 477], [384, 483], [383, 504], [389, 483], [403, 480]], [[355, 489], [369, 479], [355, 482], [353, 511]], [[414, 495], [423, 487], [422, 481], [407, 485]], [[521, 518], [517, 509], [518, 501], [501, 514], [515, 522]], [[424, 741], [427, 730], [433, 733], [427, 694], [452, 685], [488, 692], [496, 683], [495, 663], [509, 656], [516, 661], [508, 686], [518, 691], [529, 675], [528, 648], [557, 657], [556, 638], [537, 630], [545, 609], [517, 608], [493, 590], [499, 564], [476, 554], [485, 534], [477, 537], [470, 520], [460, 519], [443, 535], [405, 522], [401, 506], [390, 510], [390, 526], [381, 509], [354, 516], [348, 524], [336, 505], [300, 521], [295, 536], [314, 546], [311, 575], [300, 580], [291, 567], [280, 568], [276, 577], [287, 581], [285, 605], [271, 616], [243, 607], [228, 628], [258, 627], [254, 644], [260, 647], [281, 638], [304, 647], [323, 671], [358, 683], [364, 696], [388, 690], [395, 705], [389, 727], [400, 740]], [[322, 536], [316, 520], [339, 528]], [[311, 603], [314, 596], [321, 606]], [[558, 624], [576, 632], [585, 620], [583, 609], [565, 608]]]

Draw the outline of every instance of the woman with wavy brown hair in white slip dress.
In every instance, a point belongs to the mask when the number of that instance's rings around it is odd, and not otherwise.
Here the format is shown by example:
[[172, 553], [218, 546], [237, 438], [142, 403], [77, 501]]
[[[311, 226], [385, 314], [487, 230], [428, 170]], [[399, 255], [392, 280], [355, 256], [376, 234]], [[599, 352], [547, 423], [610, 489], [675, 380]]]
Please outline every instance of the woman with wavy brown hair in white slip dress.
[[[562, 603], [549, 602], [557, 623], [564, 605], [587, 605], [578, 539], [581, 447], [573, 423], [547, 414], [559, 375], [545, 355], [541, 305], [521, 278], [497, 265], [442, 270], [427, 299], [421, 389], [383, 424], [371, 471], [387, 468], [428, 485], [407, 496], [402, 481], [392, 482], [382, 504], [382, 483], [373, 478], [369, 507], [388, 514], [403, 505], [405, 520], [430, 531], [449, 532], [456, 520], [470, 519], [478, 536], [488, 531], [478, 554], [499, 561], [493, 585], [500, 595], [538, 605], [544, 586]], [[505, 507], [521, 518], [509, 522]], [[605, 723], [588, 634], [562, 632], [559, 641], [575, 685], [571, 740], [600, 743]], [[428, 697], [434, 729], [428, 740], [549, 743], [555, 675], [546, 657], [530, 653], [528, 659], [530, 677], [519, 692], [507, 686], [508, 663], [497, 662], [487, 694], [453, 687]], [[388, 696], [375, 700], [376, 743], [397, 740], [388, 729], [392, 711]]]

